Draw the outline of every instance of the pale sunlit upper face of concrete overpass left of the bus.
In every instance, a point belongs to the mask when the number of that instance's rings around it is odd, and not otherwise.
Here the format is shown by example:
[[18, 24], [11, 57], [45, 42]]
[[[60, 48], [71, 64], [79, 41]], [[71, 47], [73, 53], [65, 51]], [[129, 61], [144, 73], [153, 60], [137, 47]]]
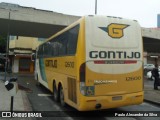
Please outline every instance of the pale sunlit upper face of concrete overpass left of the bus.
[[3, 19], [8, 19], [10, 12], [11, 20], [68, 26], [80, 18], [79, 16], [65, 15], [62, 13], [40, 10], [32, 7], [0, 4], [0, 18]]

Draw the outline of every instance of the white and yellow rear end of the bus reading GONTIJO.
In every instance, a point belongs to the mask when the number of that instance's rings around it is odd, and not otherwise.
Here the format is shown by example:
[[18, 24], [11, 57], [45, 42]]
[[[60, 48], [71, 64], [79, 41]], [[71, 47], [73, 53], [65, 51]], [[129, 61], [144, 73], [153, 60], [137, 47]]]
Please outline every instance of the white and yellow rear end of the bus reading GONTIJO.
[[80, 67], [79, 110], [143, 102], [143, 47], [136, 21], [85, 17], [85, 62]]

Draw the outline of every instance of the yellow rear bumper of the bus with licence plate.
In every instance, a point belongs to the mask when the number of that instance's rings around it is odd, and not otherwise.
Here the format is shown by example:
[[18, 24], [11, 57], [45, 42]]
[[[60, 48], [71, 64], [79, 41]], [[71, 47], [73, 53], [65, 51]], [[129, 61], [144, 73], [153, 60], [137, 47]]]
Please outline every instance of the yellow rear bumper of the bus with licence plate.
[[82, 96], [79, 111], [101, 110], [117, 108], [128, 105], [137, 105], [143, 103], [144, 92], [137, 92], [125, 95], [114, 96]]

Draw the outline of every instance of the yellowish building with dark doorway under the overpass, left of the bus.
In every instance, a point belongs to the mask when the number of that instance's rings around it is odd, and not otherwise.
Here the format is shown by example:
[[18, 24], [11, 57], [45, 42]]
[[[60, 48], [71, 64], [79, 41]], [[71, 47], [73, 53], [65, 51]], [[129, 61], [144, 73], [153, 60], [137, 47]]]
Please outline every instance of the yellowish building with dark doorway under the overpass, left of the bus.
[[13, 73], [34, 72], [34, 62], [31, 60], [31, 55], [43, 41], [42, 38], [10, 36], [9, 66]]

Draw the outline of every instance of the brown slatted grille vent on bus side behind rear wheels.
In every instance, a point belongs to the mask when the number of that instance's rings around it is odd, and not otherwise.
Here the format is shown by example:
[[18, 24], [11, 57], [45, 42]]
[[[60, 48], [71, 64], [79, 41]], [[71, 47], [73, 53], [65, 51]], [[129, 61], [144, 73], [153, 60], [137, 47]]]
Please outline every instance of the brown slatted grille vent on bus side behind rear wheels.
[[68, 98], [77, 103], [77, 88], [76, 88], [76, 79], [68, 77]]

